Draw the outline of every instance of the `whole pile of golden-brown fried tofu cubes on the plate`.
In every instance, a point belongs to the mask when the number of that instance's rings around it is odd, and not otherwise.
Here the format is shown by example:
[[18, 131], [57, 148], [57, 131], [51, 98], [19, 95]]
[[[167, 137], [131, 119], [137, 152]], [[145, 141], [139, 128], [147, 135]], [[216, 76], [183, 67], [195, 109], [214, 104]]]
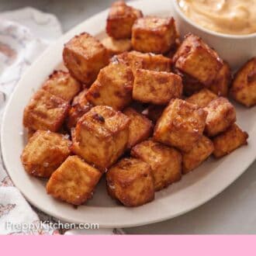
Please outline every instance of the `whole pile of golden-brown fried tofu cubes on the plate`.
[[88, 33], [64, 45], [54, 71], [26, 106], [29, 175], [73, 205], [92, 198], [102, 176], [109, 195], [141, 206], [213, 154], [247, 144], [227, 99], [256, 104], [256, 58], [234, 79], [199, 36], [180, 40], [173, 18], [114, 3], [100, 42]]

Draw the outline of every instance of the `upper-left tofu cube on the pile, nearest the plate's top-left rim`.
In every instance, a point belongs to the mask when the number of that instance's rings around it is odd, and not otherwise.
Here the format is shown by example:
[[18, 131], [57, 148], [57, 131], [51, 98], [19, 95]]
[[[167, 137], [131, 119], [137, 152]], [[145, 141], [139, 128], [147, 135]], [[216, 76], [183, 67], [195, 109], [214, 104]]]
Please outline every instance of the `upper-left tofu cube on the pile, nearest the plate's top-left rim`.
[[65, 43], [63, 60], [71, 75], [88, 86], [109, 63], [109, 53], [95, 37], [81, 33]]

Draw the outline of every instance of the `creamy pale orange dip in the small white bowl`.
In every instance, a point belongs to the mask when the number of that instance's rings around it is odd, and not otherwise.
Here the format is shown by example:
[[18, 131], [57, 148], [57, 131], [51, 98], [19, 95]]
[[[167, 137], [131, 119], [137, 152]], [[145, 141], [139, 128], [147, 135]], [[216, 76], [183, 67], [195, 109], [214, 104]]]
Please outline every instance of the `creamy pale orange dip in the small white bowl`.
[[244, 35], [256, 33], [256, 0], [175, 0], [189, 19], [206, 29]]

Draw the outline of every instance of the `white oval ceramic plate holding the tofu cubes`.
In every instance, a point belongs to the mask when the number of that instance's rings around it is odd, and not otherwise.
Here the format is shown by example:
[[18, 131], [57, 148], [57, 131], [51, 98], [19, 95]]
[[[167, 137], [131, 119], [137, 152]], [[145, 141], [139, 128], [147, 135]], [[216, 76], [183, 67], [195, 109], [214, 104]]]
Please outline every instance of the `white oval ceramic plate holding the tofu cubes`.
[[[171, 1], [157, 1], [157, 5], [155, 0], [131, 2], [130, 4], [142, 9], [145, 14], [173, 15]], [[181, 182], [157, 192], [154, 202], [137, 208], [116, 205], [116, 202], [107, 195], [104, 181], [102, 181], [88, 205], [74, 209], [47, 195], [44, 188], [45, 182], [27, 175], [19, 160], [26, 143], [26, 136], [21, 135], [24, 131], [22, 111], [29, 102], [30, 96], [37, 88], [40, 88], [47, 75], [61, 64], [63, 45], [67, 40], [83, 31], [99, 37], [104, 36], [106, 16], [107, 11], [101, 12], [61, 37], [19, 81], [6, 106], [2, 121], [2, 156], [5, 167], [12, 181], [29, 202], [43, 212], [67, 222], [99, 223], [100, 227], [133, 227], [167, 220], [195, 209], [212, 199], [234, 182], [254, 161], [256, 155], [255, 108], [245, 109], [237, 106], [238, 123], [250, 135], [247, 147], [241, 147], [220, 161], [209, 159], [196, 171], [185, 175]]]

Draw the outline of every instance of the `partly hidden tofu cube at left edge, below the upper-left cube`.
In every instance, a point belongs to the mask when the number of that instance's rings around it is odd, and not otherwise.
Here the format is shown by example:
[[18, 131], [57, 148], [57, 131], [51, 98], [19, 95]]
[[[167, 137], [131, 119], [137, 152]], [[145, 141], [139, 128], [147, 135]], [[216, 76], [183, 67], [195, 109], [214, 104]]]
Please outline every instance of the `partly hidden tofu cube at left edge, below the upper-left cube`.
[[71, 102], [80, 92], [81, 84], [64, 71], [54, 71], [43, 84], [43, 89], [61, 99]]

